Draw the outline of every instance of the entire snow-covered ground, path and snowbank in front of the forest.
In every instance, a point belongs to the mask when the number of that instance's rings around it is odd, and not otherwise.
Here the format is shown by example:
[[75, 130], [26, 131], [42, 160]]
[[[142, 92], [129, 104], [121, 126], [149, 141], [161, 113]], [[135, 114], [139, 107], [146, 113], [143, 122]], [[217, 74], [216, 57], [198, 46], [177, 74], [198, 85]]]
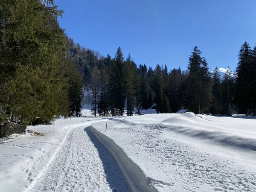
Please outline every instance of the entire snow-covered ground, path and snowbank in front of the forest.
[[106, 121], [0, 139], [1, 192], [256, 191], [254, 117], [148, 113], [109, 118], [105, 132]]

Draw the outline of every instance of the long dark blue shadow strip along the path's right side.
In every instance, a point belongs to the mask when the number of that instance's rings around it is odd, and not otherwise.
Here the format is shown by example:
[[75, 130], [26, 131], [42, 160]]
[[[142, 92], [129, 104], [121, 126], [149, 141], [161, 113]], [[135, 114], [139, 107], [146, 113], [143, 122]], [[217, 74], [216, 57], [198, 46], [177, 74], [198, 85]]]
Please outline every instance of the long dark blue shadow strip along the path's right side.
[[131, 190], [128, 187], [128, 184], [125, 181], [119, 167], [116, 164], [116, 161], [112, 155], [108, 152], [99, 140], [95, 137], [93, 132], [90, 130], [90, 127], [84, 128], [84, 131], [87, 133], [90, 141], [93, 143], [95, 148], [99, 152], [99, 157], [102, 160], [103, 169], [108, 181], [108, 184], [113, 192], [130, 192]]

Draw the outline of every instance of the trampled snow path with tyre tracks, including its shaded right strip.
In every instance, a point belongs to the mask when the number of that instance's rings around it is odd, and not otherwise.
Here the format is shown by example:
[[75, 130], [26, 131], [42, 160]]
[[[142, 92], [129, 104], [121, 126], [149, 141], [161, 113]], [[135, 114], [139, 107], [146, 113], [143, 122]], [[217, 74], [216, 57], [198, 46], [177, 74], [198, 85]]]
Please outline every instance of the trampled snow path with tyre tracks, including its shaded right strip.
[[122, 173], [90, 127], [73, 128], [27, 192], [128, 192]]

